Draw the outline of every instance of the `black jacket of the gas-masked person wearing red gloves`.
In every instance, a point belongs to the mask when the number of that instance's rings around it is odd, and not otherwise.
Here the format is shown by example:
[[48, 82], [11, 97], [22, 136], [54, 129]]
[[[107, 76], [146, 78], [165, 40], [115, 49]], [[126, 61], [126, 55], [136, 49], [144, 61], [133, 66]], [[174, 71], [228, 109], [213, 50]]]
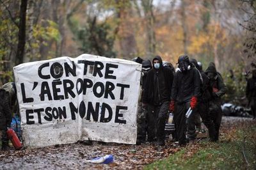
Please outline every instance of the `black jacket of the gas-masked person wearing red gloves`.
[[191, 67], [186, 72], [178, 70], [174, 75], [172, 84], [172, 100], [178, 104], [189, 102], [193, 96], [200, 97], [200, 74]]

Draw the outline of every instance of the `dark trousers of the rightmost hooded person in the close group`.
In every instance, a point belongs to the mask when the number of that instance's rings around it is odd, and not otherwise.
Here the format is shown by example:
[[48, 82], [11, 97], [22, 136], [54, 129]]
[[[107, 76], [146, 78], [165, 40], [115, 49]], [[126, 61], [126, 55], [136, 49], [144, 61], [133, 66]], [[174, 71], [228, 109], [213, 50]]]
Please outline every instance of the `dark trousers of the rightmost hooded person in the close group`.
[[210, 108], [211, 119], [214, 123], [214, 128], [216, 130], [216, 135], [215, 135], [214, 139], [216, 141], [218, 141], [219, 140], [219, 130], [220, 130], [221, 118], [222, 118], [221, 104], [220, 104], [220, 102], [211, 101], [209, 108]]

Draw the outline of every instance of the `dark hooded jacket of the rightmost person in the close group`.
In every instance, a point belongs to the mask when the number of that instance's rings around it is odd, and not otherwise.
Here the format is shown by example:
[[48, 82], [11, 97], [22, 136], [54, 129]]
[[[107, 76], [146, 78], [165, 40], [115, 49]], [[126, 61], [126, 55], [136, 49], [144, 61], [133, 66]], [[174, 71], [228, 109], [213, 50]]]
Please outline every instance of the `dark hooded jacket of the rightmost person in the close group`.
[[205, 70], [205, 73], [206, 73], [206, 74], [209, 73], [209, 72], [216, 73], [216, 75], [217, 75], [216, 80], [214, 80], [214, 81], [210, 80], [210, 86], [211, 86], [211, 88], [214, 88], [214, 89], [217, 90], [217, 91], [215, 91], [215, 92], [212, 91], [212, 100], [213, 100], [213, 99], [216, 98], [216, 97], [217, 97], [217, 98], [220, 98], [220, 97], [222, 97], [223, 95], [225, 95], [225, 93], [227, 92], [227, 87], [226, 87], [226, 85], [224, 84], [224, 81], [223, 81], [223, 79], [222, 79], [222, 77], [221, 77], [221, 74], [220, 74], [219, 72], [217, 72], [214, 63], [213, 63], [213, 64], [210, 63], [209, 66], [208, 66], [208, 68]]

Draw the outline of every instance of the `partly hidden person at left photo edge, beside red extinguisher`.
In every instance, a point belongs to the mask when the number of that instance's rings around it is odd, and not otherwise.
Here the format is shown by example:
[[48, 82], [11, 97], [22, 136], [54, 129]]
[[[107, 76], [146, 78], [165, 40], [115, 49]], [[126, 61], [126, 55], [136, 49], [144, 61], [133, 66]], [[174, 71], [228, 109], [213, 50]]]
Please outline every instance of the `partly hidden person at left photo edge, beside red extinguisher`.
[[12, 113], [8, 107], [9, 95], [4, 89], [0, 89], [0, 140], [2, 142], [1, 150], [8, 150], [9, 139], [7, 137], [7, 128], [10, 128], [12, 121]]

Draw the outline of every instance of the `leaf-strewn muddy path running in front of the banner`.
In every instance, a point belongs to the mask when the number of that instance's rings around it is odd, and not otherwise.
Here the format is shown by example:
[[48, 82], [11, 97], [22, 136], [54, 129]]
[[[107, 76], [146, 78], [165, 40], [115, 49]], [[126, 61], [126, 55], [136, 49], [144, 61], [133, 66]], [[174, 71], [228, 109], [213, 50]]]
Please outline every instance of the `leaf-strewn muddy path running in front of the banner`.
[[[236, 121], [252, 121], [248, 118], [223, 117], [221, 127], [226, 129]], [[0, 151], [0, 169], [142, 169], [146, 164], [168, 157], [179, 151], [175, 143], [166, 146], [154, 144], [99, 144], [88, 146], [81, 143], [49, 146], [45, 148]], [[112, 154], [113, 164], [86, 162], [93, 157]]]

